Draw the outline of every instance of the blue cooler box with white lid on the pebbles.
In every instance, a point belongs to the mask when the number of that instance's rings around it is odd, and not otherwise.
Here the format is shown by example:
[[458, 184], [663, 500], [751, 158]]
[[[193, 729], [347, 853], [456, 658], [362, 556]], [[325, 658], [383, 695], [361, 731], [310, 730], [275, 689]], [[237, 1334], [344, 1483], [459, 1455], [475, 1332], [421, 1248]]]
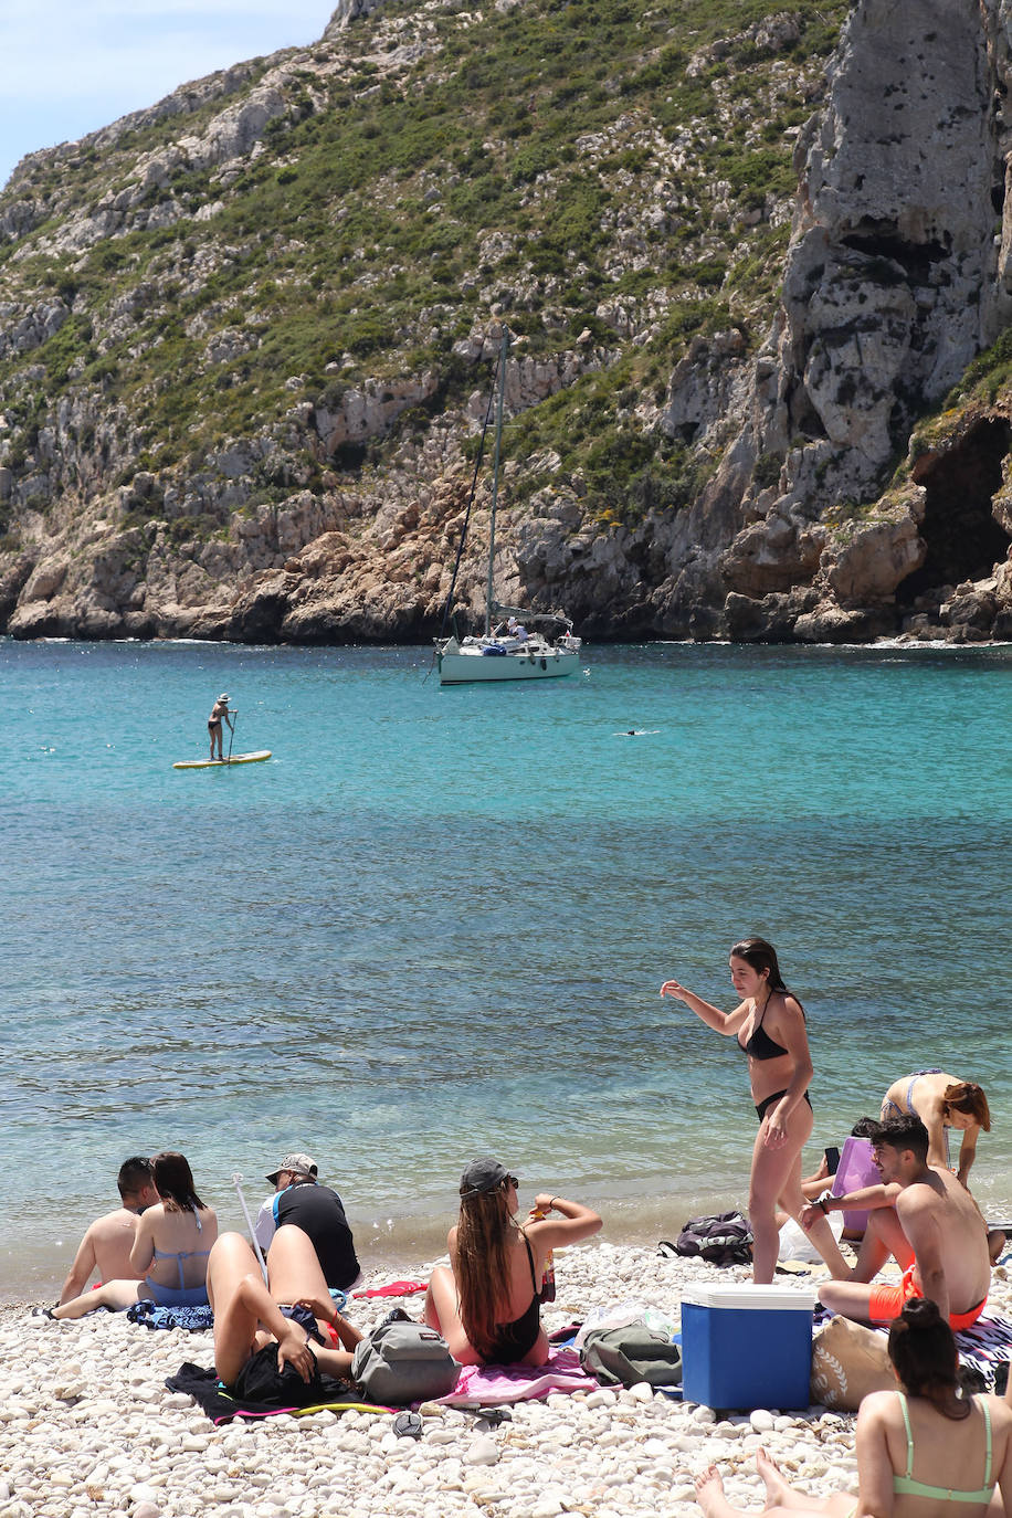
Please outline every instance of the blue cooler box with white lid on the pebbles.
[[690, 1286], [681, 1296], [681, 1394], [707, 1407], [807, 1407], [815, 1293]]

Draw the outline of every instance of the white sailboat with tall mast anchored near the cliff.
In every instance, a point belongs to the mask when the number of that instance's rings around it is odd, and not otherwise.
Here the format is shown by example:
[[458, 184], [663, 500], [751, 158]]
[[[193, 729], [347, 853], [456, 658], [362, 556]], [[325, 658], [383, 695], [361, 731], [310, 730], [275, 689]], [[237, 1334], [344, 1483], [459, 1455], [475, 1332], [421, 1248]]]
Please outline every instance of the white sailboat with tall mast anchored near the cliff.
[[[461, 635], [454, 612], [454, 589], [457, 571], [467, 540], [467, 525], [475, 504], [475, 484], [481, 454], [475, 466], [470, 501], [464, 516], [454, 580], [446, 597], [443, 635], [435, 639], [435, 659], [440, 685], [467, 685], [476, 680], [551, 680], [575, 674], [580, 668], [581, 639], [574, 635], [574, 624], [563, 612], [531, 612], [516, 606], [499, 606], [493, 594], [493, 565], [496, 553], [496, 509], [499, 505], [499, 451], [502, 442], [502, 399], [505, 395], [505, 366], [510, 352], [510, 329], [502, 328], [499, 349], [499, 378], [496, 386], [496, 433], [495, 465], [492, 474], [492, 521], [489, 525], [489, 574], [486, 580], [486, 630], [479, 635]], [[486, 417], [486, 428], [489, 419]], [[484, 433], [482, 433], [484, 440]], [[446, 636], [448, 624], [452, 627]]]

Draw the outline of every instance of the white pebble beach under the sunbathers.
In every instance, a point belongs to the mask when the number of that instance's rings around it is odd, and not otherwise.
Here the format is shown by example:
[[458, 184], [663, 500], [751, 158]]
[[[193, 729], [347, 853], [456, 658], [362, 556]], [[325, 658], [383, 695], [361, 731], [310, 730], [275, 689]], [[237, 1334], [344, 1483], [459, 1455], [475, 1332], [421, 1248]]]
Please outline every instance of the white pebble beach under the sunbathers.
[[[690, 1283], [748, 1280], [746, 1268], [595, 1242], [558, 1258], [543, 1322], [552, 1333], [621, 1302], [677, 1318]], [[420, 1296], [396, 1301], [420, 1318]], [[347, 1313], [369, 1328], [390, 1305], [352, 1299]], [[991, 1305], [1012, 1309], [1003, 1266]], [[719, 1418], [634, 1386], [514, 1403], [499, 1425], [423, 1404], [417, 1441], [398, 1438], [390, 1413], [355, 1410], [215, 1428], [164, 1384], [184, 1360], [212, 1359], [209, 1333], [149, 1331], [123, 1313], [53, 1322], [27, 1304], [0, 1310], [0, 1518], [689, 1518], [699, 1512], [693, 1479], [712, 1462], [733, 1503], [762, 1506], [760, 1444], [812, 1494], [856, 1489], [854, 1418], [824, 1407]]]

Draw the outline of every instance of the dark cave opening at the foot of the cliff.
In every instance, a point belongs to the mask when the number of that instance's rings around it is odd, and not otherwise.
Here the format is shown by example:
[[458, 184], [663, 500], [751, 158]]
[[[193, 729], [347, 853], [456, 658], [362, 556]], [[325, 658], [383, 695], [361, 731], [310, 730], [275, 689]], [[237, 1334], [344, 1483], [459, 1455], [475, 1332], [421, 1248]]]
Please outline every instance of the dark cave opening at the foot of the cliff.
[[985, 580], [1009, 551], [1009, 534], [991, 513], [1001, 489], [1001, 465], [1012, 446], [1012, 427], [1000, 417], [977, 422], [939, 458], [913, 469], [924, 486], [921, 537], [927, 557], [900, 586], [900, 598], [962, 580]]

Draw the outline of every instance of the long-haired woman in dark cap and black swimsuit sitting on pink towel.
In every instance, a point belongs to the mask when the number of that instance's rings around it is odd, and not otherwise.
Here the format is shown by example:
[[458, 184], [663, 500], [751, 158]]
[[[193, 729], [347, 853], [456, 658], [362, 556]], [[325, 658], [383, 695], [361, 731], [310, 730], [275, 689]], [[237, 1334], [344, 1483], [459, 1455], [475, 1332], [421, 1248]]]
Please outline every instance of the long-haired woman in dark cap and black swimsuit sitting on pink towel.
[[546, 1192], [519, 1224], [517, 1184], [498, 1160], [472, 1160], [460, 1178], [460, 1219], [448, 1239], [451, 1268], [432, 1271], [425, 1321], [461, 1365], [545, 1365], [539, 1283], [546, 1258], [601, 1228], [589, 1207]]

